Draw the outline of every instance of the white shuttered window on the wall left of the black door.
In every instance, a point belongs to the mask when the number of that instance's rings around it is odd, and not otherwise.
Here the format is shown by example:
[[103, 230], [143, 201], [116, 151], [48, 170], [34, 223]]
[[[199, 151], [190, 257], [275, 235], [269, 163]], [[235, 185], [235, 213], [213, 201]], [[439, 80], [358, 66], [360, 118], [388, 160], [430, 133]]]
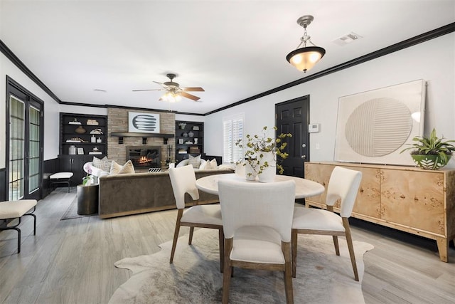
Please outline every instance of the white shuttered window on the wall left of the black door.
[[243, 114], [223, 117], [223, 162], [237, 162], [243, 157], [243, 149], [235, 145], [243, 139]]

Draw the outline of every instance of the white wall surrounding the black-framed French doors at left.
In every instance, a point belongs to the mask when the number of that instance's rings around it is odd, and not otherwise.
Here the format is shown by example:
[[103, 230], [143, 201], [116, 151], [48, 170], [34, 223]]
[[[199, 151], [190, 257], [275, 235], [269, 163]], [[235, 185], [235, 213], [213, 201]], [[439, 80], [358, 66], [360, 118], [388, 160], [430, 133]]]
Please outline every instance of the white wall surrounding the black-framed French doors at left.
[[6, 167], [6, 75], [16, 80], [28, 91], [44, 102], [44, 159], [53, 159], [58, 154], [59, 104], [41, 90], [28, 76], [23, 74], [14, 63], [0, 53], [0, 168]]

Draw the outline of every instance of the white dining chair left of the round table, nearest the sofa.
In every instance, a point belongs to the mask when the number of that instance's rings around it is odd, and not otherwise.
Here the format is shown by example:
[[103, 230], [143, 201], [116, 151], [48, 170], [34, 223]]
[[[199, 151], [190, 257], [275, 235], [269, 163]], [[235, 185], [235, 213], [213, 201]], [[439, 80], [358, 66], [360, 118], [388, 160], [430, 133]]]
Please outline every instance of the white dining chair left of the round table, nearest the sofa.
[[[169, 169], [169, 177], [171, 177], [171, 184], [173, 195], [176, 199], [176, 206], [178, 209], [176, 229], [173, 234], [173, 243], [171, 249], [171, 259], [169, 263], [173, 262], [173, 256], [176, 252], [178, 233], [181, 226], [190, 227], [190, 236], [188, 244], [191, 245], [193, 241], [194, 227], [218, 229], [218, 238], [220, 244], [220, 271], [223, 272], [223, 249], [224, 249], [224, 234], [223, 234], [223, 221], [221, 219], [220, 204], [198, 205], [199, 192], [196, 187], [196, 174], [194, 173], [191, 164]], [[190, 194], [193, 199], [193, 206], [185, 209], [185, 194]]]

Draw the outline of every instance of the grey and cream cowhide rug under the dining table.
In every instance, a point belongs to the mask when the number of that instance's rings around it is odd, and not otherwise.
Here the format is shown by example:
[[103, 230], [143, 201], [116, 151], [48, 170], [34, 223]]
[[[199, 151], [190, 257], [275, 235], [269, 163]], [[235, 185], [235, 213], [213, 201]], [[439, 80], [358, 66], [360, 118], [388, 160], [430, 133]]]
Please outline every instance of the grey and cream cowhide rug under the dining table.
[[[363, 253], [374, 247], [354, 241], [360, 276], [356, 282], [346, 241], [339, 243], [341, 256], [336, 256], [331, 236], [299, 235], [297, 276], [292, 279], [294, 303], [365, 303]], [[173, 264], [169, 263], [171, 246], [168, 241], [158, 253], [114, 263], [132, 271], [132, 276], [109, 303], [220, 303], [223, 274], [217, 231], [195, 231], [191, 246], [188, 236], [181, 236]], [[286, 303], [283, 273], [235, 268], [230, 303]]]

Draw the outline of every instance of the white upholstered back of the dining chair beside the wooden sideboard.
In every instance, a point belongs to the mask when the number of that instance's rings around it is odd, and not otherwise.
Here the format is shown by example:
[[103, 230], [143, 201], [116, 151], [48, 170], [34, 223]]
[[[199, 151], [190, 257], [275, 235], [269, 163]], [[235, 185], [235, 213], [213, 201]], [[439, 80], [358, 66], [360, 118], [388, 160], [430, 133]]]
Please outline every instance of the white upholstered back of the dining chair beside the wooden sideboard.
[[341, 199], [342, 217], [349, 217], [353, 211], [358, 187], [362, 180], [362, 172], [335, 167], [328, 181], [326, 204], [333, 206], [338, 199]]

